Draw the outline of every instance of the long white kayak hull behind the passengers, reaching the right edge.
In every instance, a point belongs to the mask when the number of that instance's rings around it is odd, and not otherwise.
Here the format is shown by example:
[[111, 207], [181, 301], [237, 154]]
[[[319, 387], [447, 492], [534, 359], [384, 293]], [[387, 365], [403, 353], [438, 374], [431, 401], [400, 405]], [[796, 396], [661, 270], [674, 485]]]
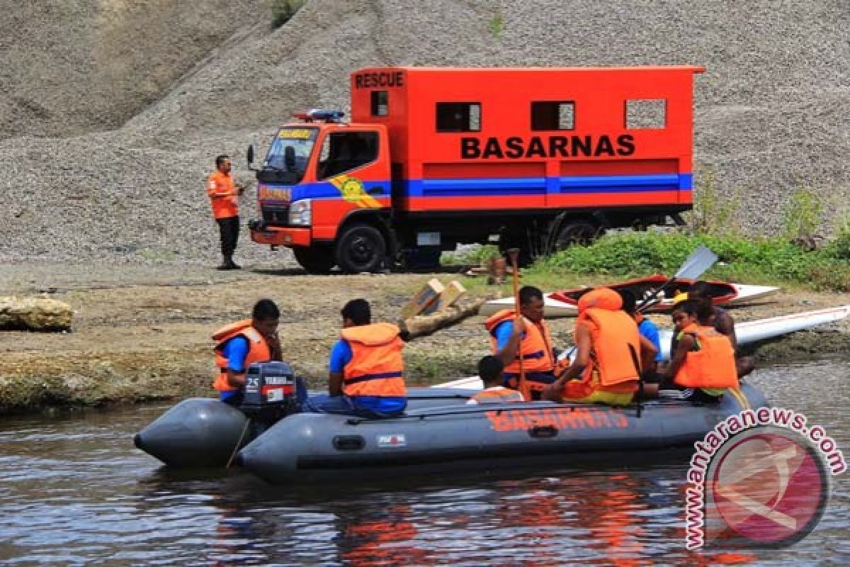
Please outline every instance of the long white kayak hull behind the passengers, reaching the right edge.
[[[768, 338], [781, 337], [791, 332], [810, 329], [814, 326], [833, 323], [846, 318], [848, 315], [850, 315], [850, 305], [842, 305], [840, 307], [804, 311], [791, 315], [779, 315], [778, 317], [770, 317], [769, 319], [744, 321], [735, 324], [735, 337], [738, 339], [739, 344], [756, 343]], [[663, 329], [659, 332], [661, 355], [664, 357], [664, 360], [670, 358], [671, 337], [672, 331], [669, 329]], [[484, 385], [481, 383], [481, 378], [470, 376], [437, 384], [436, 387], [481, 389], [484, 388]]]

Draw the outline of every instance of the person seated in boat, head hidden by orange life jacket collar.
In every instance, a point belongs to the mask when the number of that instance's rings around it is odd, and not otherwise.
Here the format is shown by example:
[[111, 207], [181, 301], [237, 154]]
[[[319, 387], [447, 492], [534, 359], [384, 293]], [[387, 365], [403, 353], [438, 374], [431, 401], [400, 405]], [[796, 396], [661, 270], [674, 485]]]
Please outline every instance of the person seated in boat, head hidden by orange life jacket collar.
[[[543, 390], [543, 399], [561, 402], [628, 405], [638, 394], [641, 369], [658, 352], [638, 332], [622, 308], [622, 298], [608, 287], [581, 296], [575, 320], [575, 360]], [[644, 394], [654, 393], [647, 384]], [[653, 392], [649, 392], [653, 390]]]

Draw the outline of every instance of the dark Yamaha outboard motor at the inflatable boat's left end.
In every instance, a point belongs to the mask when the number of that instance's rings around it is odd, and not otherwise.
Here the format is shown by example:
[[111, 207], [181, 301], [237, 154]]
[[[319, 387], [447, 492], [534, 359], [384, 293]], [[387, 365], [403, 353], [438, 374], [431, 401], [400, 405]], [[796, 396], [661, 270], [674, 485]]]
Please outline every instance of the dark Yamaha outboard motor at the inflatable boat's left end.
[[271, 423], [297, 412], [292, 366], [286, 362], [255, 362], [248, 366], [239, 409], [247, 417]]

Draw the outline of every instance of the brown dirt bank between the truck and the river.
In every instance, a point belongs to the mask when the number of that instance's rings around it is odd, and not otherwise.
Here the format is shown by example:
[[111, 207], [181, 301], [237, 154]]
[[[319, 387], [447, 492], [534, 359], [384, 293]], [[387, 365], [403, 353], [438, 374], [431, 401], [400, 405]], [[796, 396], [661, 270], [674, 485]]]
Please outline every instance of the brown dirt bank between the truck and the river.
[[[66, 333], [0, 333], [0, 413], [212, 395], [210, 333], [244, 317], [263, 297], [280, 306], [285, 358], [320, 387], [343, 303], [368, 298], [378, 319], [396, 320], [400, 307], [429, 277], [312, 276], [273, 265], [241, 272], [194, 264], [8, 265], [0, 274], [3, 293], [47, 293], [70, 303], [75, 320]], [[736, 320], [751, 320], [846, 303], [850, 294], [783, 292], [733, 314]], [[665, 326], [667, 319], [657, 318]], [[489, 349], [482, 321], [473, 317], [409, 343], [409, 382], [473, 373]], [[568, 343], [573, 321], [553, 320], [552, 326], [556, 343]], [[785, 362], [848, 348], [850, 321], [845, 320], [762, 346], [757, 355], [762, 363]]]

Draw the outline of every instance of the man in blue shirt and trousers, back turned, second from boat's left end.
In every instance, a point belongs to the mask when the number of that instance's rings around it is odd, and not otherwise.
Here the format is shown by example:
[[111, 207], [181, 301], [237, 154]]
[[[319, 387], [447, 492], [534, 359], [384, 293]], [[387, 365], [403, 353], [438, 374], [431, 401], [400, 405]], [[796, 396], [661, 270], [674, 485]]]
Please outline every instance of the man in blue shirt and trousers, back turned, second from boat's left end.
[[407, 406], [399, 327], [372, 323], [365, 299], [346, 303], [342, 315], [342, 337], [331, 348], [328, 364], [328, 394], [303, 400], [302, 411], [369, 418], [399, 416]]

